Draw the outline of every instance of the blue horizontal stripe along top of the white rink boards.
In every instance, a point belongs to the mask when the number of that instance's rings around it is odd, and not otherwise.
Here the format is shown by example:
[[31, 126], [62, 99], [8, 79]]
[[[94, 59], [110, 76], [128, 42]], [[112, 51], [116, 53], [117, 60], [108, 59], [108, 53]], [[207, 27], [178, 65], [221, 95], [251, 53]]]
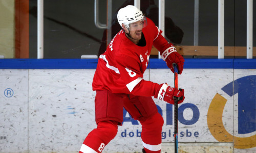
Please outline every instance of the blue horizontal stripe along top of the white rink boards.
[[[98, 59], [0, 59], [1, 69], [95, 69]], [[168, 68], [150, 59], [147, 68]], [[256, 69], [256, 59], [185, 59], [184, 68]]]

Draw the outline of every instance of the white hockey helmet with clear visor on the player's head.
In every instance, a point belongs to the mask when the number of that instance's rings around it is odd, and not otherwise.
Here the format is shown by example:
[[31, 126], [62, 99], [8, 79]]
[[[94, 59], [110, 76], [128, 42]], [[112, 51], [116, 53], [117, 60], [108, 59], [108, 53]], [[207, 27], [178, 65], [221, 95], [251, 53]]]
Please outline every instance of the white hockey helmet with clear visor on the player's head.
[[117, 20], [121, 27], [122, 24], [124, 24], [124, 27], [127, 29], [130, 29], [130, 23], [137, 22], [139, 20], [142, 20], [143, 28], [147, 24], [146, 17], [138, 8], [133, 5], [127, 5], [126, 7], [121, 8], [117, 13]]

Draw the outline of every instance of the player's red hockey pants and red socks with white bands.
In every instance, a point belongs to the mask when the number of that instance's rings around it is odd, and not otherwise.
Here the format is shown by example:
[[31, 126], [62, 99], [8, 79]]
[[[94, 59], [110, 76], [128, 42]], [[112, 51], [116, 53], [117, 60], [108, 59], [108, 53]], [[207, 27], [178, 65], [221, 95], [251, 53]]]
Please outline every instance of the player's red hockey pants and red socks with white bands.
[[141, 139], [144, 150], [147, 153], [161, 151], [163, 118], [158, 113], [152, 97], [113, 94], [108, 90], [96, 92], [97, 129], [88, 134], [79, 153], [101, 152], [104, 146], [114, 139], [117, 125], [122, 124], [123, 107], [142, 125]]

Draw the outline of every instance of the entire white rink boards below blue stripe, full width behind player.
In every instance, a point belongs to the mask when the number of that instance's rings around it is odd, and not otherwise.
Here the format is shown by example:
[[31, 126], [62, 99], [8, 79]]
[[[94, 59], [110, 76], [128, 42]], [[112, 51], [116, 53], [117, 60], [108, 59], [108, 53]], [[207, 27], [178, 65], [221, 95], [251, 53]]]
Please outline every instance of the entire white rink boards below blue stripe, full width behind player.
[[[94, 72], [95, 69], [1, 70], [0, 133], [3, 139], [0, 140], [0, 152], [78, 152], [84, 138], [96, 127], [95, 91], [92, 91]], [[233, 79], [255, 74], [255, 69], [184, 69], [178, 77], [179, 87], [185, 89], [185, 100], [179, 105], [181, 110], [183, 107], [183, 120], [179, 122], [179, 149], [256, 152], [255, 147], [236, 149], [233, 142], [219, 143], [207, 125], [209, 105], [219, 93], [227, 99], [222, 114], [225, 129], [231, 135], [237, 135], [233, 133], [233, 124], [237, 123], [237, 118], [233, 117], [233, 106], [237, 99], [228, 96], [221, 88]], [[144, 79], [159, 84], [166, 82], [170, 86], [174, 84], [174, 74], [169, 69], [147, 69]], [[5, 96], [7, 88], [14, 91], [12, 97]], [[168, 116], [172, 113], [170, 105], [154, 100], [162, 110], [165, 122], [162, 151], [172, 152], [174, 126]], [[199, 114], [196, 116], [197, 109]], [[105, 146], [103, 152], [141, 152], [140, 124], [124, 122], [118, 128], [116, 138]], [[252, 135], [255, 132], [246, 136]]]

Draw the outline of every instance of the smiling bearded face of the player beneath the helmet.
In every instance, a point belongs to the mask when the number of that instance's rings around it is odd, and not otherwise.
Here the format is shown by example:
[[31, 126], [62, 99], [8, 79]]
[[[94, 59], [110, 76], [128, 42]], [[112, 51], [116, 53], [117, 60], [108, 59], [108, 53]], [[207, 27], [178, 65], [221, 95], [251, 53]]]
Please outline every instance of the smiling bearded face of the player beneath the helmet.
[[130, 27], [130, 36], [135, 40], [141, 39], [141, 33], [143, 28], [143, 21], [139, 20], [129, 24]]

